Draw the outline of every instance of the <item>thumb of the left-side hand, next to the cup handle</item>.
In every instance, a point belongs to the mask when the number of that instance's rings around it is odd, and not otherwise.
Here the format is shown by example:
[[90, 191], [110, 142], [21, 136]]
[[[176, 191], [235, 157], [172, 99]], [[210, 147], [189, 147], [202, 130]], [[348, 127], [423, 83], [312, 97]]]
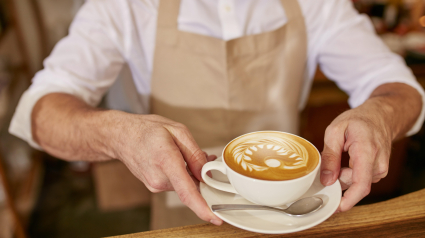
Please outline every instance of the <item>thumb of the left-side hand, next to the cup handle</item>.
[[199, 181], [203, 181], [201, 171], [204, 164], [207, 163], [207, 156], [196, 144], [189, 129], [182, 124], [165, 125], [164, 127], [173, 136], [174, 142], [179, 147], [192, 174]]

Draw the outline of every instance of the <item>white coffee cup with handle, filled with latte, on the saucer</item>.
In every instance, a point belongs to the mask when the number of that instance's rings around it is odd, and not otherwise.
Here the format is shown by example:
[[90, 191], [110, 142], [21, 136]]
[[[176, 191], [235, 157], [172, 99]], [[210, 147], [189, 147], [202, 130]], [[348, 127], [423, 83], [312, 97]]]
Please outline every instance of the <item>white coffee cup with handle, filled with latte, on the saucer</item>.
[[[206, 184], [272, 207], [293, 202], [307, 192], [321, 164], [313, 144], [279, 131], [239, 136], [226, 145], [222, 158], [222, 162], [211, 161], [202, 168]], [[209, 177], [210, 170], [227, 175], [230, 184]]]

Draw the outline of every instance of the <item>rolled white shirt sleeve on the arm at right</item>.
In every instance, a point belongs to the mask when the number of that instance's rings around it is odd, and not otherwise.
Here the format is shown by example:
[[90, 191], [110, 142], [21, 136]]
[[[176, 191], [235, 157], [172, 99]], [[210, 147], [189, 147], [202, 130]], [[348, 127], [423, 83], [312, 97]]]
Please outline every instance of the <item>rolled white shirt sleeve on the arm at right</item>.
[[[317, 61], [323, 73], [349, 95], [351, 107], [365, 102], [378, 86], [395, 82], [418, 90], [425, 105], [424, 90], [404, 60], [388, 49], [369, 18], [358, 14], [351, 1], [329, 1], [323, 12], [326, 15], [322, 39], [317, 42]], [[423, 106], [407, 136], [420, 130], [424, 114]]]

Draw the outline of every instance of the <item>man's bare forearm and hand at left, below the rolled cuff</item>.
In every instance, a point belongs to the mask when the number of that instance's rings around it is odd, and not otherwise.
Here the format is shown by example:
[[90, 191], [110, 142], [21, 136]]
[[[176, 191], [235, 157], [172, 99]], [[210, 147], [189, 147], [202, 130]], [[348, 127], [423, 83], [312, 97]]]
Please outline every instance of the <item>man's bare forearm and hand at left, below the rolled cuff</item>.
[[198, 217], [222, 223], [196, 187], [207, 155], [182, 124], [100, 110], [73, 95], [52, 93], [34, 106], [32, 135], [46, 152], [68, 161], [119, 159], [150, 191], [175, 190]]

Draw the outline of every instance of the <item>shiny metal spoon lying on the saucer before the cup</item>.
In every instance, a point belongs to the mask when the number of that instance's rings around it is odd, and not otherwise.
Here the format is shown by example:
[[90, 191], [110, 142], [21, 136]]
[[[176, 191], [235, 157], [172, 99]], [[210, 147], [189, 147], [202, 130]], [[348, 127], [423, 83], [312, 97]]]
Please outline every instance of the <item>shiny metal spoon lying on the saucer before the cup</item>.
[[282, 212], [289, 216], [303, 216], [319, 210], [322, 206], [323, 200], [321, 198], [306, 197], [297, 200], [286, 209], [250, 204], [218, 204], [212, 205], [211, 209], [213, 212], [227, 210], [269, 210]]

